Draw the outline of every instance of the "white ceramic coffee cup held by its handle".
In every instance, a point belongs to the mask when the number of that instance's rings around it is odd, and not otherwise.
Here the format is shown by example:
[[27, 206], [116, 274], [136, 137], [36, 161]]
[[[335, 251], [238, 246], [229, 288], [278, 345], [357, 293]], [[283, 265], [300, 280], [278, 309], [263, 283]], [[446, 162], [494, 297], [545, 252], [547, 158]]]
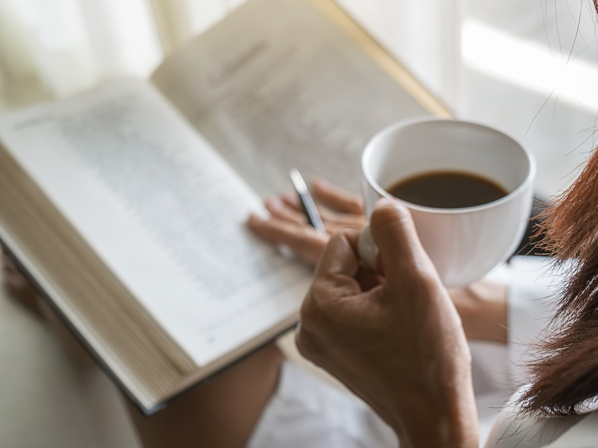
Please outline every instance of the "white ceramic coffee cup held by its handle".
[[[380, 131], [362, 157], [365, 211], [393, 198], [413, 216], [422, 245], [447, 287], [465, 286], [507, 260], [524, 234], [532, 207], [535, 162], [506, 134], [472, 122], [419, 118]], [[396, 199], [385, 188], [433, 171], [485, 177], [508, 194], [467, 208], [431, 208]], [[369, 226], [359, 238], [359, 256], [376, 266], [377, 248]]]

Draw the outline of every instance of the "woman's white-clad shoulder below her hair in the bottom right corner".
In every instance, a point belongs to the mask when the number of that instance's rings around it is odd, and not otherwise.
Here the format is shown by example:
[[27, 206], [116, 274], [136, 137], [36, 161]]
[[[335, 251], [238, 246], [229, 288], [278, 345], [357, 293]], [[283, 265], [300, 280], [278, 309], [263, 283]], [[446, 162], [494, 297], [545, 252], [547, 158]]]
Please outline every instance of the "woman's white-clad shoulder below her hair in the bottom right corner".
[[496, 421], [486, 448], [598, 447], [598, 410], [566, 417], [530, 416], [513, 407]]

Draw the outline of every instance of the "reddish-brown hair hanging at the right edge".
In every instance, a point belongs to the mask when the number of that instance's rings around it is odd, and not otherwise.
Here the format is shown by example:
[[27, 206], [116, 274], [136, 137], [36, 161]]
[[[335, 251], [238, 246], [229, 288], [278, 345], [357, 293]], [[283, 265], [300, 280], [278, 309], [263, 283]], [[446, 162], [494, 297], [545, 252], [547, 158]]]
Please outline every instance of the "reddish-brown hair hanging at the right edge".
[[598, 401], [598, 148], [544, 218], [541, 246], [567, 277], [519, 404], [524, 412], [572, 415]]

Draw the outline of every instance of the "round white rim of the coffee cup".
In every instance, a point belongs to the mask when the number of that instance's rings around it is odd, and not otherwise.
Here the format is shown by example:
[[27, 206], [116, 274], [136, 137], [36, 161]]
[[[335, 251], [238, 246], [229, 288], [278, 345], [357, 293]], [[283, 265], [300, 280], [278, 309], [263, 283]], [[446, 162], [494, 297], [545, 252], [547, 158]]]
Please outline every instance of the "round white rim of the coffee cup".
[[[472, 207], [462, 207], [462, 208], [426, 207], [425, 205], [413, 204], [411, 202], [404, 201], [402, 199], [399, 199], [399, 198], [391, 195], [388, 191], [386, 191], [384, 188], [382, 188], [382, 186], [380, 186], [379, 183], [376, 182], [376, 180], [373, 179], [373, 176], [371, 176], [370, 172], [367, 170], [368, 161], [370, 159], [371, 153], [374, 151], [374, 148], [376, 148], [376, 146], [377, 146], [376, 144], [379, 142], [379, 140], [386, 137], [389, 133], [392, 133], [393, 131], [395, 131], [399, 128], [404, 128], [404, 127], [407, 127], [412, 124], [426, 122], [426, 121], [459, 122], [462, 124], [471, 125], [471, 126], [478, 127], [478, 128], [484, 128], [484, 130], [491, 131], [496, 134], [500, 134], [502, 137], [506, 137], [507, 139], [512, 140], [512, 142], [514, 142], [521, 149], [521, 151], [523, 151], [523, 153], [527, 157], [527, 161], [529, 162], [529, 166], [527, 168], [527, 173], [526, 173], [525, 178], [523, 179], [523, 182], [521, 182], [517, 186], [517, 188], [515, 188], [513, 191], [509, 192], [507, 195], [503, 196], [502, 198], [497, 199], [496, 201], [486, 202], [486, 204], [474, 205]], [[504, 202], [508, 202], [512, 198], [517, 196], [520, 191], [522, 191], [523, 189], [526, 189], [527, 186], [529, 185], [529, 183], [532, 182], [532, 180], [536, 174], [536, 161], [533, 158], [533, 155], [529, 151], [527, 151], [527, 149], [524, 148], [524, 146], [521, 145], [521, 143], [519, 143], [517, 140], [515, 140], [513, 137], [509, 136], [508, 134], [506, 134], [502, 131], [499, 131], [498, 129], [495, 129], [490, 126], [487, 126], [487, 125], [484, 125], [481, 123], [477, 123], [474, 121], [459, 120], [459, 119], [453, 119], [453, 118], [437, 118], [434, 116], [432, 116], [432, 117], [428, 117], [428, 116], [421, 117], [420, 116], [420, 117], [416, 117], [416, 118], [401, 120], [401, 121], [395, 122], [393, 124], [390, 124], [387, 127], [383, 128], [382, 130], [378, 131], [373, 137], [371, 137], [371, 139], [368, 140], [368, 143], [365, 145], [364, 153], [361, 156], [361, 171], [364, 175], [366, 182], [379, 195], [381, 195], [382, 197], [385, 197], [385, 198], [390, 198], [395, 201], [398, 201], [401, 204], [405, 205], [405, 207], [410, 208], [411, 210], [426, 211], [428, 213], [437, 213], [437, 214], [463, 214], [463, 213], [474, 213], [477, 211], [486, 210], [487, 208], [496, 207], [496, 205], [500, 205]]]

